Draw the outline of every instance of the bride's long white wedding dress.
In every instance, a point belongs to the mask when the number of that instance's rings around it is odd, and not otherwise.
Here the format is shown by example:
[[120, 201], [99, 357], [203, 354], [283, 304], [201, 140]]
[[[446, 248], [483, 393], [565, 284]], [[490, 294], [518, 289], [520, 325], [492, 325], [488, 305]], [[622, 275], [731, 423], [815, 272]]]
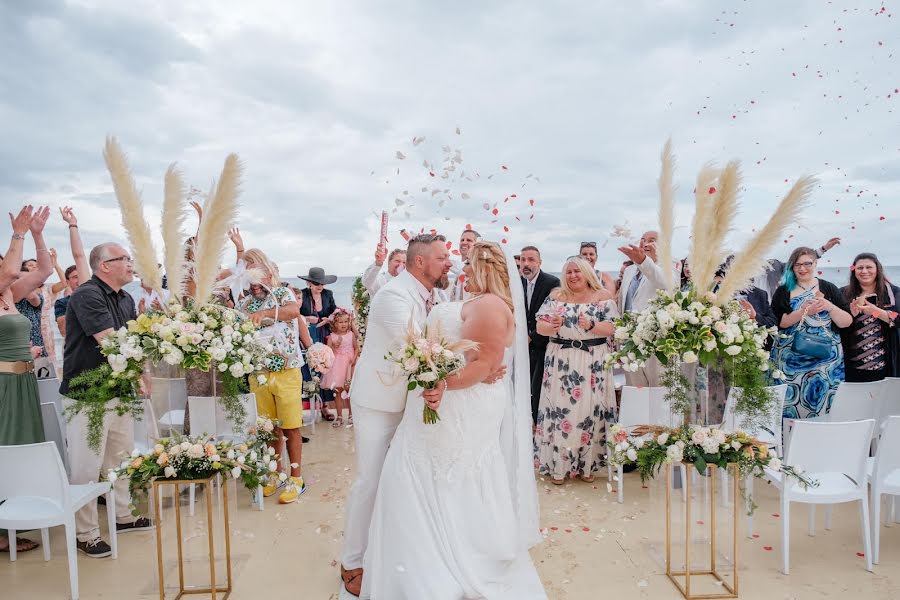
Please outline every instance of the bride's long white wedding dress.
[[[462, 306], [438, 304], [428, 323], [440, 321], [445, 338], [458, 340]], [[421, 393], [410, 392], [378, 487], [362, 598], [547, 598], [528, 555], [533, 542], [519, 531], [501, 451], [510, 394], [509, 376], [447, 392], [441, 420], [426, 425]]]

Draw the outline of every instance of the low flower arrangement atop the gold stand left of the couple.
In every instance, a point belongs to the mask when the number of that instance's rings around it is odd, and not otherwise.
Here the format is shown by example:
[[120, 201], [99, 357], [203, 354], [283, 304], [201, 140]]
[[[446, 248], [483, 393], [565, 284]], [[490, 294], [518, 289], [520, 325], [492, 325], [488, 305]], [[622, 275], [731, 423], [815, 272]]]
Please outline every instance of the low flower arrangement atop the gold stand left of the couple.
[[[277, 421], [259, 417], [241, 443], [215, 441], [207, 435], [160, 438], [147, 452], [133, 450], [106, 477], [110, 482], [128, 479], [132, 511], [140, 500], [146, 500], [156, 478], [206, 479], [219, 473], [240, 479], [244, 487], [255, 491], [278, 470], [278, 455], [268, 445], [275, 439], [273, 432], [278, 425]], [[287, 479], [284, 473], [277, 477]]]

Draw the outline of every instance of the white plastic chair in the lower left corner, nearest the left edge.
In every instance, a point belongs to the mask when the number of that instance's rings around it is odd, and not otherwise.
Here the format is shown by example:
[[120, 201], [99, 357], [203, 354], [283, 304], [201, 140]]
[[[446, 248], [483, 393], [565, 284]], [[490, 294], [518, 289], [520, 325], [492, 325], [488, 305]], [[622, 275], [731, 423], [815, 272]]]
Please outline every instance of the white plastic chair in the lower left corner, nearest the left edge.
[[75, 513], [106, 494], [109, 545], [118, 558], [115, 492], [109, 482], [71, 485], [53, 442], [0, 446], [0, 529], [9, 530], [9, 560], [16, 560], [16, 531], [41, 530], [44, 560], [50, 560], [47, 529], [66, 528], [69, 586], [78, 600], [78, 561], [75, 546]]

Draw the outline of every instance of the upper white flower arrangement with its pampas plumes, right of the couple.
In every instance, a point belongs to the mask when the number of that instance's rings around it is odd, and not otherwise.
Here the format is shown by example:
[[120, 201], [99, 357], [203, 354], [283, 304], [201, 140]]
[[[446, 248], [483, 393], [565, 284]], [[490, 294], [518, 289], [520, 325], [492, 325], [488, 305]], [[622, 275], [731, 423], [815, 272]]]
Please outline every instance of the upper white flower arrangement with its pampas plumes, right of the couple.
[[692, 282], [688, 289], [679, 290], [672, 269], [673, 170], [671, 142], [666, 142], [659, 178], [658, 243], [658, 264], [664, 288], [658, 291], [647, 309], [636, 314], [626, 313], [616, 321], [618, 349], [607, 360], [625, 370], [636, 371], [651, 358], [657, 358], [665, 368], [662, 383], [668, 389], [666, 399], [673, 412], [685, 414], [685, 423], [690, 409], [690, 390], [681, 365], [715, 363], [725, 370], [731, 385], [743, 389], [735, 412], [742, 417], [742, 424], [750, 427], [760, 423], [770, 412], [772, 399], [765, 386], [767, 373], [774, 367], [764, 345], [777, 331], [757, 324], [734, 296], [749, 286], [755, 275], [768, 268], [769, 249], [781, 239], [783, 230], [796, 221], [815, 180], [801, 177], [794, 184], [768, 223], [735, 254], [724, 278], [717, 282], [716, 273], [726, 259], [725, 238], [738, 209], [740, 163], [732, 161], [724, 169], [704, 167], [694, 189], [696, 202], [688, 255]]

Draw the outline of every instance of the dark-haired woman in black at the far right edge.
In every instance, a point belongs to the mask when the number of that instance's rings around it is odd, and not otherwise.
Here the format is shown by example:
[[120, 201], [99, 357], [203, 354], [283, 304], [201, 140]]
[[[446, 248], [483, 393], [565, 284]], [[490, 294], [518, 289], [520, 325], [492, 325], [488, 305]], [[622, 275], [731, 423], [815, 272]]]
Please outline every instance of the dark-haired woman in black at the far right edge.
[[858, 254], [850, 269], [850, 282], [841, 292], [853, 317], [852, 325], [841, 330], [845, 381], [900, 376], [900, 288], [884, 276], [878, 257], [871, 252]]

